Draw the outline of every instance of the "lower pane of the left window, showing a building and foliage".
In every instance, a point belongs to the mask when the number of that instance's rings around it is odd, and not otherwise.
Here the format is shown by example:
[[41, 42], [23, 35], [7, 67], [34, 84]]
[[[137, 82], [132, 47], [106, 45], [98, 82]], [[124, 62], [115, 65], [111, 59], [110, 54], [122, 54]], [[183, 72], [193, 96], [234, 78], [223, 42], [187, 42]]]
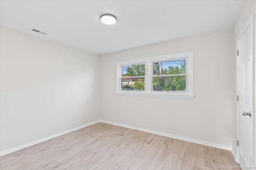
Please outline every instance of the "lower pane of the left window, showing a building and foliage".
[[145, 90], [144, 78], [122, 78], [122, 90]]

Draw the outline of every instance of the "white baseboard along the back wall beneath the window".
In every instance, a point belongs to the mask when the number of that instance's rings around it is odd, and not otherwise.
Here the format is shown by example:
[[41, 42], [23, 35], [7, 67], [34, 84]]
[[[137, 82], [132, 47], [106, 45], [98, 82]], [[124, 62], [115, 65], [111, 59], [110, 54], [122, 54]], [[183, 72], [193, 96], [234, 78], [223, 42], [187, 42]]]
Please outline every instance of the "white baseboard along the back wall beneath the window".
[[135, 130], [144, 131], [144, 132], [148, 132], [148, 133], [154, 133], [154, 134], [156, 134], [156, 135], [162, 135], [162, 136], [166, 136], [166, 137], [171, 137], [171, 138], [175, 138], [175, 139], [180, 139], [180, 140], [188, 141], [188, 142], [192, 142], [192, 143], [198, 143], [198, 144], [201, 144], [201, 145], [206, 145], [206, 146], [215, 147], [215, 148], [219, 148], [219, 149], [225, 149], [225, 150], [230, 150], [230, 151], [232, 150], [232, 147], [225, 146], [225, 145], [219, 145], [219, 144], [216, 144], [216, 143], [210, 143], [210, 142], [200, 141], [200, 140], [191, 139], [191, 138], [187, 138], [187, 137], [181, 137], [181, 136], [177, 136], [177, 135], [171, 135], [171, 134], [168, 134], [168, 133], [162, 133], [162, 132], [158, 132], [158, 131], [152, 131], [152, 130], [148, 130], [148, 129], [142, 129], [142, 128], [139, 128], [139, 127], [124, 125], [124, 124], [115, 123], [115, 122], [111, 122], [111, 121], [105, 121], [105, 120], [100, 120], [100, 121], [101, 121], [101, 122], [104, 122], [104, 123], [109, 123], [109, 124], [112, 124], [112, 125], [127, 127], [127, 128], [130, 128], [130, 129], [135, 129]]

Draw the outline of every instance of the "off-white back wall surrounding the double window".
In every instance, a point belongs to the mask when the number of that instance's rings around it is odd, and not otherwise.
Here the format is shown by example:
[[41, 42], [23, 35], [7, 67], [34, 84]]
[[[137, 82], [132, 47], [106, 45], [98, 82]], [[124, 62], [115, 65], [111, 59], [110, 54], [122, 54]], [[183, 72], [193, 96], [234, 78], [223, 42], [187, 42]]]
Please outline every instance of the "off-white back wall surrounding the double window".
[[[101, 56], [102, 119], [231, 147], [233, 41], [225, 29]], [[116, 62], [186, 51], [194, 51], [194, 99], [115, 95]]]

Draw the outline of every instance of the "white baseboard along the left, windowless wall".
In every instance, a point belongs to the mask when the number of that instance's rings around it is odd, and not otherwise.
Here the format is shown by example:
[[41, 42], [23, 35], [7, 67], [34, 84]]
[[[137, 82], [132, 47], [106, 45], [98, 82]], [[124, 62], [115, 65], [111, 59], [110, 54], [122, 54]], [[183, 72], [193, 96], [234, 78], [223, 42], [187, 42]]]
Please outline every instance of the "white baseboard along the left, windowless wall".
[[67, 131], [64, 131], [64, 132], [61, 132], [61, 133], [58, 133], [58, 134], [49, 136], [49, 137], [45, 137], [45, 138], [43, 138], [43, 139], [39, 139], [39, 140], [34, 141], [34, 142], [30, 142], [30, 143], [27, 143], [27, 144], [24, 144], [24, 145], [21, 145], [21, 146], [18, 146], [18, 147], [14, 147], [14, 148], [12, 148], [12, 149], [4, 150], [4, 151], [0, 152], [0, 156], [3, 156], [3, 155], [5, 155], [5, 154], [11, 153], [11, 152], [15, 152], [15, 151], [20, 150], [20, 149], [24, 149], [24, 148], [26, 148], [26, 147], [30, 147], [30, 146], [32, 146], [32, 145], [36, 145], [36, 144], [41, 143], [41, 142], [44, 142], [44, 141], [48, 141], [48, 140], [53, 139], [53, 138], [55, 138], [55, 137], [58, 137], [58, 136], [61, 136], [61, 135], [65, 135], [66, 133], [70, 133], [70, 132], [72, 132], [72, 131], [76, 131], [76, 130], [78, 130], [78, 129], [82, 129], [82, 128], [84, 128], [84, 127], [87, 127], [87, 126], [90, 126], [90, 125], [93, 125], [93, 124], [99, 123], [99, 122], [100, 122], [100, 120], [94, 121], [94, 122], [92, 122], [92, 123], [88, 123], [88, 124], [86, 124], [86, 125], [82, 125], [82, 126], [79, 126], [79, 127], [74, 128], [74, 129], [70, 129], [70, 130], [67, 130]]

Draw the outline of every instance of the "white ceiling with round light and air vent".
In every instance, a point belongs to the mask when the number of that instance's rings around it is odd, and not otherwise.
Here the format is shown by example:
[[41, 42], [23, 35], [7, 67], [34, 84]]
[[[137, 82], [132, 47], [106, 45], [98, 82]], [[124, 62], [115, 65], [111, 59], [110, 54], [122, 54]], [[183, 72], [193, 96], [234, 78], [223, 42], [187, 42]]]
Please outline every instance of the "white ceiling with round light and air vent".
[[[103, 55], [233, 27], [243, 4], [244, 0], [1, 0], [0, 24]], [[115, 15], [117, 23], [102, 23], [105, 13]]]

